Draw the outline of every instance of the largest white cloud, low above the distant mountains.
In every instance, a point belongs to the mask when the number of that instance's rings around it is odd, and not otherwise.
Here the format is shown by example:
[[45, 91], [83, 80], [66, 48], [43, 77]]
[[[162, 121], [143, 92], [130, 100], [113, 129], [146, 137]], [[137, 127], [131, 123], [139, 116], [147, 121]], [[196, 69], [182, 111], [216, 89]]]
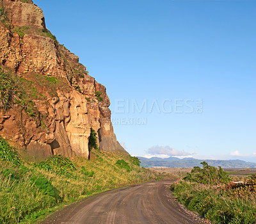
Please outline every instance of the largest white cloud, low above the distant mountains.
[[148, 156], [161, 156], [161, 157], [170, 157], [170, 156], [191, 156], [191, 153], [180, 151], [175, 148], [172, 148], [168, 145], [159, 146], [156, 145], [154, 147], [148, 148], [147, 150]]

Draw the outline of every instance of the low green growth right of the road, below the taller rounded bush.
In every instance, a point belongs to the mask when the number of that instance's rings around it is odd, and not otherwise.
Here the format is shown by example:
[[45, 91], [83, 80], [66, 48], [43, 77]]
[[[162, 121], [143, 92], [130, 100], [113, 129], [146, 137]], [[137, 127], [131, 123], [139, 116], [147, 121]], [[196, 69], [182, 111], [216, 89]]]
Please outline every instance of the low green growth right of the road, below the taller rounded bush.
[[214, 223], [256, 222], [255, 195], [251, 194], [250, 198], [234, 198], [229, 196], [228, 191], [184, 180], [172, 188], [179, 202]]

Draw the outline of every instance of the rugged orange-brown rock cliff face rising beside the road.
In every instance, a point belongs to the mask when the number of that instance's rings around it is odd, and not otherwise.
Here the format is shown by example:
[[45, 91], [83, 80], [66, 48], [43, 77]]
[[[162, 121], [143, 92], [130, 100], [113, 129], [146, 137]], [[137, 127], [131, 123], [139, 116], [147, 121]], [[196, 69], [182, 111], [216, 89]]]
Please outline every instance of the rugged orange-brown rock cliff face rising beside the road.
[[113, 132], [106, 88], [46, 29], [31, 0], [0, 3], [0, 67], [23, 90], [0, 112], [0, 135], [20, 150], [40, 158], [88, 157], [92, 127], [100, 150], [125, 152]]

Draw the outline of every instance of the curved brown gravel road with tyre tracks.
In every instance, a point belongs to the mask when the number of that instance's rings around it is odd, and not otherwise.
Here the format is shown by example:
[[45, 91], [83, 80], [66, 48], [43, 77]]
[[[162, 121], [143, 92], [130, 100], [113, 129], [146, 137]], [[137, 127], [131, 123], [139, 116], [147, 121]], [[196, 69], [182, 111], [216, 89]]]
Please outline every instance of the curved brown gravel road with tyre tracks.
[[173, 182], [161, 180], [105, 191], [68, 205], [40, 223], [206, 223], [175, 202], [170, 191]]

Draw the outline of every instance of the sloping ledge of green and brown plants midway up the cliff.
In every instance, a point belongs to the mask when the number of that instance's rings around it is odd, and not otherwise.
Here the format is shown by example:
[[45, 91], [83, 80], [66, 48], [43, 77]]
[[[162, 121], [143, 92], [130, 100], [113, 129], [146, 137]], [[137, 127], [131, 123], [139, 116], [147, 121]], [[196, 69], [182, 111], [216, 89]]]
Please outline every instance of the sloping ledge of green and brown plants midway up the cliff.
[[34, 101], [43, 100], [47, 104], [47, 97], [58, 96], [58, 88], [68, 90], [67, 84], [57, 77], [41, 74], [19, 77], [12, 71], [0, 67], [0, 109], [7, 112], [13, 104], [17, 104], [43, 129], [47, 129], [45, 115], [36, 109]]

